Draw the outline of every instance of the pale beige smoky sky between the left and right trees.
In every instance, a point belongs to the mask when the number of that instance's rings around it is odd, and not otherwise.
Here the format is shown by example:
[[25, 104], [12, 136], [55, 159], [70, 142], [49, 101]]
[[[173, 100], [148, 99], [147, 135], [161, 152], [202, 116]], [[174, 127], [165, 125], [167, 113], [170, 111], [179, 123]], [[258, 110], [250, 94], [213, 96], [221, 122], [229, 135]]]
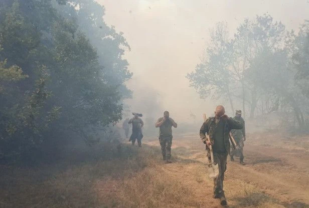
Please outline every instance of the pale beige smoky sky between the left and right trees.
[[[226, 21], [233, 34], [245, 19], [270, 14], [288, 30], [309, 19], [308, 0], [97, 0], [105, 6], [105, 22], [123, 32], [131, 51], [125, 58], [134, 73], [127, 83], [135, 96], [140, 88], [158, 91], [163, 109], [186, 121], [214, 111], [219, 101], [205, 101], [189, 88], [186, 74], [200, 62], [209, 30]], [[144, 92], [144, 91], [143, 91]], [[136, 98], [136, 97], [135, 97]], [[136, 98], [136, 100], [138, 100]], [[128, 101], [134, 109], [134, 102]], [[240, 108], [235, 106], [235, 108]], [[232, 116], [229, 108], [227, 114]], [[158, 115], [161, 116], [161, 115]]]

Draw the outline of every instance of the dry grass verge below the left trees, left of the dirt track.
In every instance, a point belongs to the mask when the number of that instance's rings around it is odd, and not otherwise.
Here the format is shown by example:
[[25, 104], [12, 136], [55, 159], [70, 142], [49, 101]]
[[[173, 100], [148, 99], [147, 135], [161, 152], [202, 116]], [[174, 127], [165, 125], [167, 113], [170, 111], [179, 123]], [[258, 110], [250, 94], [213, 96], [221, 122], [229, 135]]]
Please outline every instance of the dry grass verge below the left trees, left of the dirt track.
[[110, 154], [76, 152], [60, 164], [3, 167], [0, 207], [196, 207], [190, 187], [163, 171], [160, 149], [124, 145]]

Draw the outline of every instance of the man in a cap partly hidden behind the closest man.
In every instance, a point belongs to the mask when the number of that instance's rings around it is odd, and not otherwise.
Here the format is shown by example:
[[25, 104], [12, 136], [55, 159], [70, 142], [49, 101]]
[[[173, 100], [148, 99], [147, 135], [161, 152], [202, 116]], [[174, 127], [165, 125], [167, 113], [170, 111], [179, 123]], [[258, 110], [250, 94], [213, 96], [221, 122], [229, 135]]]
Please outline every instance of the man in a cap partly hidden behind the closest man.
[[246, 141], [246, 129], [245, 129], [245, 120], [241, 117], [241, 110], [236, 110], [236, 115], [233, 118], [236, 121], [239, 121], [242, 124], [242, 129], [233, 129], [231, 133], [237, 143], [238, 149], [231, 149], [230, 156], [231, 161], [234, 161], [234, 155], [239, 156], [240, 164], [245, 165], [244, 163], [244, 141]]

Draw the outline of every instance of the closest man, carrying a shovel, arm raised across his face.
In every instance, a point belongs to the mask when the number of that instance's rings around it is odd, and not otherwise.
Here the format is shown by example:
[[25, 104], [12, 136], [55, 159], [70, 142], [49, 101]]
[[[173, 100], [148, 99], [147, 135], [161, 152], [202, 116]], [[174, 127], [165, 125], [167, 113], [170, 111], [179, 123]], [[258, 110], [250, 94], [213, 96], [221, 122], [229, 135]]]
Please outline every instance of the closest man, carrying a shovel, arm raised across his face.
[[[223, 180], [227, 164], [226, 159], [230, 150], [229, 131], [231, 129], [242, 129], [242, 125], [225, 115], [222, 105], [216, 107], [215, 117], [206, 119], [200, 129], [200, 137], [206, 144], [209, 163], [211, 163], [209, 145], [212, 145], [214, 161], [219, 166], [219, 175], [214, 178], [214, 198], [220, 198], [221, 205], [227, 204], [223, 191]], [[206, 136], [206, 133], [208, 136]]]

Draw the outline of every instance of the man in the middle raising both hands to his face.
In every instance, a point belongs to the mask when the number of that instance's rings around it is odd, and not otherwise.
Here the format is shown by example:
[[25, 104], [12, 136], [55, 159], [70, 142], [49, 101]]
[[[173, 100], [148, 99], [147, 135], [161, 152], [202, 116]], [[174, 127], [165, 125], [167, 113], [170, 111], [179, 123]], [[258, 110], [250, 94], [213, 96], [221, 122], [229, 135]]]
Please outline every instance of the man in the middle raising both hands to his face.
[[164, 116], [159, 118], [156, 123], [156, 128], [160, 127], [159, 131], [159, 141], [161, 145], [163, 160], [167, 163], [171, 163], [171, 147], [172, 147], [172, 126], [177, 128], [177, 123], [170, 118], [170, 113], [168, 111], [164, 112]]

